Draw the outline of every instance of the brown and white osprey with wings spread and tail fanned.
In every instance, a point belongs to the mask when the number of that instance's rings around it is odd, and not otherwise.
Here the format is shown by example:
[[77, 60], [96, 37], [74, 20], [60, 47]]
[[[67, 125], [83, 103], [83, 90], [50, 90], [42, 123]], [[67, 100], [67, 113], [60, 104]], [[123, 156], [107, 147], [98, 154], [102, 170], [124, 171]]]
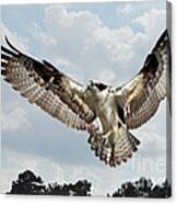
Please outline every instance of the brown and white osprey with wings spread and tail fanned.
[[119, 88], [93, 80], [85, 88], [50, 63], [23, 54], [7, 37], [5, 42], [1, 73], [13, 89], [69, 127], [86, 131], [91, 148], [106, 165], [116, 167], [132, 157], [140, 141], [130, 129], [146, 123], [167, 97], [167, 30], [138, 75]]

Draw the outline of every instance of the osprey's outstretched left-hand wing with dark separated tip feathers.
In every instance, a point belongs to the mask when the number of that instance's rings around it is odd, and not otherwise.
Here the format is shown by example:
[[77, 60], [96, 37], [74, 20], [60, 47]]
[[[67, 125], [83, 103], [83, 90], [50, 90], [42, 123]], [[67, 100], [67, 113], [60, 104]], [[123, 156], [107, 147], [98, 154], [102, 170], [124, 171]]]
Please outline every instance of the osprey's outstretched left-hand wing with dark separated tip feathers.
[[5, 37], [1, 46], [1, 73], [12, 88], [44, 111], [76, 129], [85, 129], [94, 113], [84, 101], [82, 84], [67, 77], [51, 64], [35, 60], [17, 50]]

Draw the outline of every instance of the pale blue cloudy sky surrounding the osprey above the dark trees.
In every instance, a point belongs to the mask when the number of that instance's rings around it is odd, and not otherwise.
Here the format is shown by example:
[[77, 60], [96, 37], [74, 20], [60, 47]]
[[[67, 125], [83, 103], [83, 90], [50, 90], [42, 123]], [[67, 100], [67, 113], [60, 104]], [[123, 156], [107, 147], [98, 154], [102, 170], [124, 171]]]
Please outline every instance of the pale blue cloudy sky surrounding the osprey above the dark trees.
[[[52, 61], [84, 84], [96, 79], [118, 87], [138, 72], [166, 27], [165, 9], [163, 0], [3, 5], [1, 42], [7, 35], [23, 52]], [[87, 179], [95, 195], [140, 177], [155, 182], [166, 178], [165, 101], [149, 123], [133, 131], [141, 140], [139, 151], [128, 163], [110, 169], [90, 149], [87, 134], [28, 104], [3, 81], [1, 98], [1, 192], [26, 169], [45, 182]]]

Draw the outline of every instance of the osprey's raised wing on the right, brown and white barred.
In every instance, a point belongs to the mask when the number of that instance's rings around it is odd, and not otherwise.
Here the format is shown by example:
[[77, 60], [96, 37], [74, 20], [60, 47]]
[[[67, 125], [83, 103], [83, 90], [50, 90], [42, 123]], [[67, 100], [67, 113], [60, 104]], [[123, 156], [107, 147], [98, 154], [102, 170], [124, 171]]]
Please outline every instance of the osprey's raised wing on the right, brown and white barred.
[[148, 122], [167, 95], [169, 86], [170, 44], [167, 30], [146, 57], [143, 68], [127, 84], [116, 91], [122, 120], [128, 128], [137, 128]]

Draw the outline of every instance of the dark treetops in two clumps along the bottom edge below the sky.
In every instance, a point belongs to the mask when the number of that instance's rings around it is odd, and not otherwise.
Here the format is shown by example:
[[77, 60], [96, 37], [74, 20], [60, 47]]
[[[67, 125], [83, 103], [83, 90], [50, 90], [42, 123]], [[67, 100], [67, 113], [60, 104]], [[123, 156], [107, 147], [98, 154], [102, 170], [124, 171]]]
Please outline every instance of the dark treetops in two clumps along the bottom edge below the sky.
[[[45, 185], [40, 177], [26, 170], [20, 173], [16, 181], [12, 182], [10, 192], [7, 194], [31, 194], [31, 195], [68, 195], [68, 196], [91, 196], [92, 183], [87, 180], [78, 181], [72, 184], [52, 183]], [[172, 195], [172, 188], [166, 180], [162, 184], [153, 184], [152, 180], [141, 178], [135, 182], [125, 182], [109, 197], [160, 197], [165, 199]]]

